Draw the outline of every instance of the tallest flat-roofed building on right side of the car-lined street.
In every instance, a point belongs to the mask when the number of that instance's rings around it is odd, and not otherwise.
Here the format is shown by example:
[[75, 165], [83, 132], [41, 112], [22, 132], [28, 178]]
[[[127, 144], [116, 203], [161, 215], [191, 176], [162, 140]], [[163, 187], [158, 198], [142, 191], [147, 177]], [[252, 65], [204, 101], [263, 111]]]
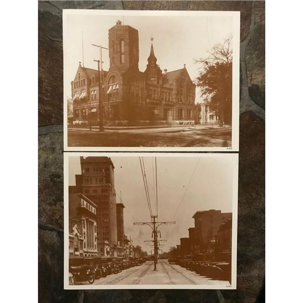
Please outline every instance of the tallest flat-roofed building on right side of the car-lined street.
[[232, 213], [221, 213], [217, 210], [197, 211], [192, 218], [200, 252], [211, 252], [220, 225], [227, 219], [232, 219]]

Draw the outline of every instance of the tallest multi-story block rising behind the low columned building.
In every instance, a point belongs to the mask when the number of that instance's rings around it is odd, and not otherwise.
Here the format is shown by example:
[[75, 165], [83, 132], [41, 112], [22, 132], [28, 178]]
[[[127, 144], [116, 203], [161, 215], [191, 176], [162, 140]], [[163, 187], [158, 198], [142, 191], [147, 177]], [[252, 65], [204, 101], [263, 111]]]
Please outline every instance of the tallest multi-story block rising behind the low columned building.
[[96, 205], [97, 250], [117, 256], [117, 211], [114, 165], [108, 157], [80, 157], [81, 175], [76, 188]]

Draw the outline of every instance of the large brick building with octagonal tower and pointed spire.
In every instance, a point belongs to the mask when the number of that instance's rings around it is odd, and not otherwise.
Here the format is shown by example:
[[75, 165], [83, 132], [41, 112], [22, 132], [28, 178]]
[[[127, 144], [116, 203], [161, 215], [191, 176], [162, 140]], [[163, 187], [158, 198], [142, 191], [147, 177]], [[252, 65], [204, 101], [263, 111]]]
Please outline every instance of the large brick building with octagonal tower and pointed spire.
[[139, 71], [138, 30], [121, 21], [109, 29], [109, 57], [109, 71], [102, 70], [99, 75], [79, 64], [71, 82], [74, 124], [98, 123], [98, 76], [105, 125], [194, 122], [195, 84], [185, 64], [163, 72], [151, 42], [146, 69]]

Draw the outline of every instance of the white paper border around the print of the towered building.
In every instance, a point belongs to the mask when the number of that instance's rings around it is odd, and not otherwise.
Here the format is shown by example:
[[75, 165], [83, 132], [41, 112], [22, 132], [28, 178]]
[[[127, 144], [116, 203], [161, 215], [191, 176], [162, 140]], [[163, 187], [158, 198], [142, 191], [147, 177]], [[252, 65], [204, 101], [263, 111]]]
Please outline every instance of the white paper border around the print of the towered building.
[[[64, 98], [64, 151], [239, 151], [239, 102], [240, 102], [240, 12], [238, 11], [124, 11], [124, 10], [63, 10], [63, 73], [64, 58], [67, 56], [64, 37], [67, 30], [67, 15], [111, 15], [111, 16], [224, 16], [233, 18], [233, 64], [232, 64], [232, 135], [231, 147], [111, 147], [111, 146], [68, 146], [67, 100]], [[64, 77], [63, 77], [64, 78]], [[64, 96], [66, 95], [64, 88]]]

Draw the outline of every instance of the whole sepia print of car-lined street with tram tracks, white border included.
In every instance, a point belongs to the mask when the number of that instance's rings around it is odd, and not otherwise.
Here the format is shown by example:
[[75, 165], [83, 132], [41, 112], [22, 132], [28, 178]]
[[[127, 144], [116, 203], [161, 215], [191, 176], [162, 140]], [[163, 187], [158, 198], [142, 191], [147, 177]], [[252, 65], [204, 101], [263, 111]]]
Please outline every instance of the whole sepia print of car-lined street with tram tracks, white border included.
[[64, 288], [236, 289], [237, 154], [65, 153]]

